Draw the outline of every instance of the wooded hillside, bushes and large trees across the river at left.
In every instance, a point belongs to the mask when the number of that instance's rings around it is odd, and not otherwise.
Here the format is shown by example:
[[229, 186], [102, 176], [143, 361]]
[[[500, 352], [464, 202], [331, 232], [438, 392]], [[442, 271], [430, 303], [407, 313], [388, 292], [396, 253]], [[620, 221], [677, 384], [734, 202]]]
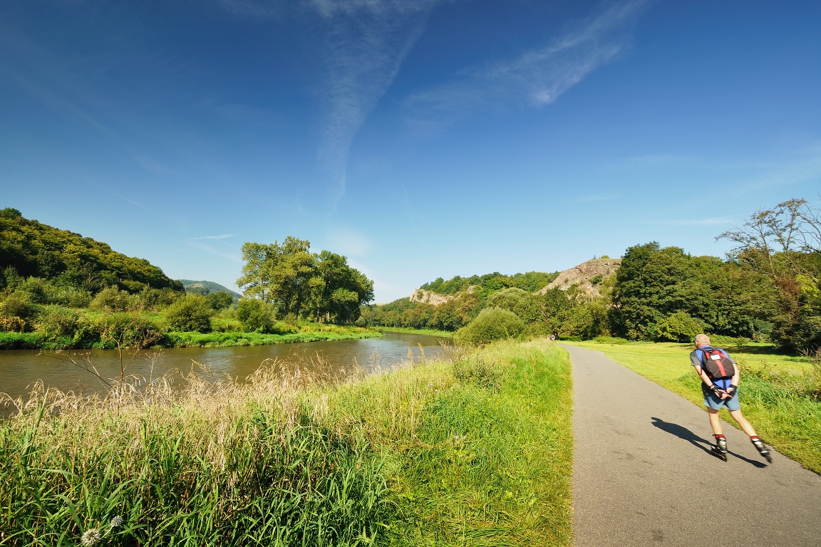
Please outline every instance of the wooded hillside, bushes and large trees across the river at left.
[[352, 323], [373, 299], [373, 282], [345, 257], [309, 248], [291, 237], [245, 244], [245, 298], [237, 301], [211, 290], [222, 285], [185, 289], [144, 259], [2, 209], [0, 348], [146, 347], [176, 344], [172, 333], [295, 335], [328, 330], [306, 321]]

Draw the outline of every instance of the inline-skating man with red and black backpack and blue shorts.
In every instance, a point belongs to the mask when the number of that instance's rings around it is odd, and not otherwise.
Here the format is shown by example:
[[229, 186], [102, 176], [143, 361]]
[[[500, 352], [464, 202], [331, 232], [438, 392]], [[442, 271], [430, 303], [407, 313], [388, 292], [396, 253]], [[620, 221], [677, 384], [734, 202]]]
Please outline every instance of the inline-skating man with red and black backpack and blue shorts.
[[695, 367], [695, 373], [701, 378], [701, 391], [704, 393], [704, 406], [710, 417], [710, 426], [713, 427], [713, 437], [716, 444], [713, 454], [727, 461], [727, 439], [722, 430], [721, 418], [718, 411], [727, 408], [730, 416], [735, 420], [741, 431], [750, 435], [750, 441], [759, 454], [772, 462], [769, 449], [755, 435], [750, 422], [741, 414], [741, 404], [738, 402], [738, 381], [740, 372], [738, 363], [723, 349], [713, 348], [708, 335], [695, 336], [695, 350], [690, 353], [690, 364]]

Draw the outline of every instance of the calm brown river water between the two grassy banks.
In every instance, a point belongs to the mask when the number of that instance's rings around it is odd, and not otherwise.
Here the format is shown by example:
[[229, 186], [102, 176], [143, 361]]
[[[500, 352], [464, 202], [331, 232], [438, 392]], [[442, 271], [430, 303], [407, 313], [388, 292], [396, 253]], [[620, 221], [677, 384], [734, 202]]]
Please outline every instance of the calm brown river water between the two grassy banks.
[[[154, 378], [168, 371], [179, 369], [188, 372], [192, 362], [207, 365], [218, 376], [230, 376], [243, 381], [254, 372], [265, 359], [300, 359], [319, 362], [331, 369], [348, 368], [358, 363], [366, 371], [377, 367], [390, 368], [408, 358], [408, 349], [415, 359], [420, 358], [420, 346], [425, 358], [441, 355], [442, 348], [435, 336], [409, 335], [388, 332], [383, 338], [365, 340], [337, 340], [333, 342], [311, 342], [310, 344], [277, 344], [267, 346], [245, 346], [236, 348], [172, 348], [164, 349], [154, 365]], [[91, 394], [103, 390], [104, 386], [94, 376], [71, 362], [62, 361], [54, 352], [37, 350], [0, 350], [0, 393], [11, 398], [24, 396], [30, 392], [35, 381], [42, 380], [47, 387], [75, 393]], [[71, 354], [88, 354], [89, 350], [71, 350]], [[103, 378], [118, 378], [120, 362], [117, 351], [100, 349], [90, 352], [91, 362]], [[150, 352], [149, 352], [150, 353]], [[57, 358], [55, 358], [57, 357]], [[79, 359], [77, 359], [79, 362]], [[150, 365], [144, 355], [135, 358], [126, 370], [126, 375], [139, 374], [149, 377]]]

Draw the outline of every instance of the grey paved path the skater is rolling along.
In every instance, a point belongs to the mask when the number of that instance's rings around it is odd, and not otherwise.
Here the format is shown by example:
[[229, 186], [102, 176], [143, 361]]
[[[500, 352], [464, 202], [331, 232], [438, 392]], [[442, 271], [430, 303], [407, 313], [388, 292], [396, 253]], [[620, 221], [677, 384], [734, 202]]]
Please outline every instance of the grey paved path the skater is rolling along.
[[821, 545], [821, 476], [774, 451], [767, 465], [729, 425], [724, 463], [709, 453], [702, 409], [601, 352], [563, 347], [575, 391], [576, 545]]

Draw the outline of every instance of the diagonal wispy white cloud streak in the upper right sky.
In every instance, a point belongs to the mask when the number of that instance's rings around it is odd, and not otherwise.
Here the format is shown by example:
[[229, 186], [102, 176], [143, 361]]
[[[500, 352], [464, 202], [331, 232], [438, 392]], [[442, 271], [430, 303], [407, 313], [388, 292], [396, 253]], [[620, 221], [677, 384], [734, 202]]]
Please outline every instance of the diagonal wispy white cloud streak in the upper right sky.
[[541, 107], [553, 103], [630, 43], [630, 30], [649, 0], [620, 2], [599, 16], [566, 30], [543, 48], [514, 59], [467, 69], [438, 89], [410, 96], [415, 117], [494, 110], [511, 104]]

